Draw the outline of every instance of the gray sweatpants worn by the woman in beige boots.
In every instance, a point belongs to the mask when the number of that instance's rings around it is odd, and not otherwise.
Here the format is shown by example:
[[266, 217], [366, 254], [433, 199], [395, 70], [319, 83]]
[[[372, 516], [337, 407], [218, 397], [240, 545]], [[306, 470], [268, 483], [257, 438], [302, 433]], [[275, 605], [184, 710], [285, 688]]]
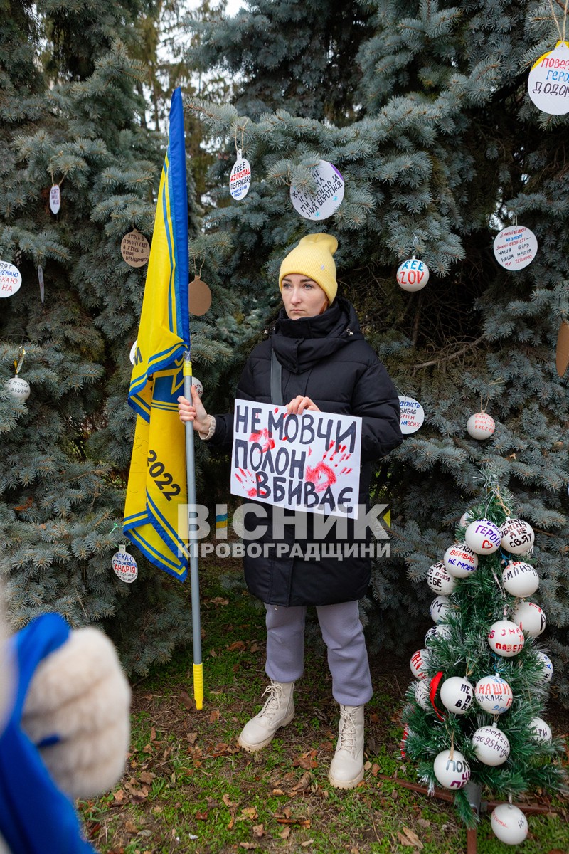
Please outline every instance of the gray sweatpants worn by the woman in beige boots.
[[[267, 609], [267, 664], [276, 682], [294, 682], [305, 669], [306, 608], [265, 605]], [[328, 646], [332, 693], [341, 705], [363, 705], [371, 699], [368, 651], [356, 602], [316, 607], [322, 639]]]

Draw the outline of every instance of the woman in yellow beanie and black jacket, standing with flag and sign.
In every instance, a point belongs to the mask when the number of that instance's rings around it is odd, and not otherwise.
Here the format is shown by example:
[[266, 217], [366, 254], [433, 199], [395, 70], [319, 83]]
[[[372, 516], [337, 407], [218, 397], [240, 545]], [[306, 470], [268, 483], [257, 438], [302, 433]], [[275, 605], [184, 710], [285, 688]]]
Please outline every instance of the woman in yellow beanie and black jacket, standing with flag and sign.
[[[397, 447], [402, 436], [397, 391], [365, 342], [354, 308], [336, 295], [337, 247], [331, 235], [307, 235], [282, 261], [281, 313], [269, 340], [249, 356], [236, 398], [283, 405], [295, 415], [326, 412], [361, 418], [359, 521], [369, 508], [371, 464]], [[194, 421], [194, 430], [212, 445], [230, 445], [234, 416], [209, 415], [194, 389], [192, 396], [191, 403], [178, 398], [180, 418]], [[332, 443], [330, 449], [338, 450]], [[328, 471], [334, 477], [329, 466]], [[258, 479], [256, 494], [264, 495]], [[363, 707], [372, 695], [358, 611], [371, 573], [369, 535], [360, 530], [358, 540], [352, 518], [328, 518], [324, 526], [322, 515], [295, 512], [277, 525], [270, 503], [246, 507], [244, 525], [260, 549], [246, 549], [245, 576], [266, 608], [270, 686], [269, 699], [247, 722], [239, 743], [247, 751], [260, 750], [293, 720], [294, 682], [304, 670], [306, 607], [316, 605], [334, 699], [340, 704], [329, 780], [338, 788], [357, 786], [363, 778]], [[258, 518], [258, 537], [252, 517]], [[338, 524], [328, 528], [330, 521]]]

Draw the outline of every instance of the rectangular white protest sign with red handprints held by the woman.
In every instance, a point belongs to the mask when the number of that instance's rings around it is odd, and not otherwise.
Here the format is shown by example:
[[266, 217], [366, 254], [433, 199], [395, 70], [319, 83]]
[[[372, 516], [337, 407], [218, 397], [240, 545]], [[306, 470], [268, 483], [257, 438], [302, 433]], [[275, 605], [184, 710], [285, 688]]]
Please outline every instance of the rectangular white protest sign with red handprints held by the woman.
[[362, 419], [235, 401], [231, 492], [250, 500], [357, 518]]

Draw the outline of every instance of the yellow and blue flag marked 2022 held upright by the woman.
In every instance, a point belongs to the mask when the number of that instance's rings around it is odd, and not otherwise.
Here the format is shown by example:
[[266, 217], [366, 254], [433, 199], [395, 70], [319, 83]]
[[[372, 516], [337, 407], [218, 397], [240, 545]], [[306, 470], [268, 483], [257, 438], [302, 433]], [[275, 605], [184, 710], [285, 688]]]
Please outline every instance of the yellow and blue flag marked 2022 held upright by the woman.
[[[125, 503], [125, 535], [180, 581], [188, 574], [183, 352], [189, 348], [189, 249], [182, 92], [171, 99], [170, 140], [154, 218], [129, 404], [137, 413]], [[186, 518], [180, 513], [180, 518]], [[185, 543], [184, 543], [185, 541]]]

